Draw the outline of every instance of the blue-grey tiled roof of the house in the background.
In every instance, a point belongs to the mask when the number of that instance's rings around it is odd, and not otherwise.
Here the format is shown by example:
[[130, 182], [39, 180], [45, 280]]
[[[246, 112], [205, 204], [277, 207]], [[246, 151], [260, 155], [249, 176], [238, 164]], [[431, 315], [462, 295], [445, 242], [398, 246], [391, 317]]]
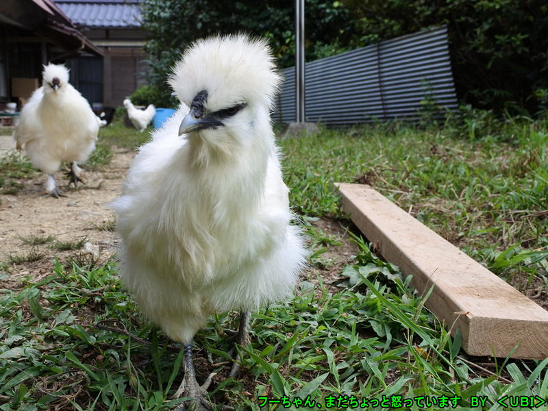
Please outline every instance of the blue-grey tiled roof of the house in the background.
[[56, 1], [73, 23], [86, 27], [139, 27], [138, 1]]

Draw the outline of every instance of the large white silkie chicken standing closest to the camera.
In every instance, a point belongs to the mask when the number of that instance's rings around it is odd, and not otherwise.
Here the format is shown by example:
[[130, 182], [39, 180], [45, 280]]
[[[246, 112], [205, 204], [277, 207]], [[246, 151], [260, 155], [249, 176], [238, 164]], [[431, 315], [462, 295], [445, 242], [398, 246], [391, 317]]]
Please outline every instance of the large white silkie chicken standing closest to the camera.
[[199, 40], [170, 84], [182, 104], [141, 147], [113, 208], [123, 282], [184, 345], [183, 394], [203, 409], [192, 338], [210, 314], [239, 309], [237, 340], [246, 344], [249, 311], [288, 295], [306, 251], [290, 225], [271, 126], [279, 77], [266, 42]]

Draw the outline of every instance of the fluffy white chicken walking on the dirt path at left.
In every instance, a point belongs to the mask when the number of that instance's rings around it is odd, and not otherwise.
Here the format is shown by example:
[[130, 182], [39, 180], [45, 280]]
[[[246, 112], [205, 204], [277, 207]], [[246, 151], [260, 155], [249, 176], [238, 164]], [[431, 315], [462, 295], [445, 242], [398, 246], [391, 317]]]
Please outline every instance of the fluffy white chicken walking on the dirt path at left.
[[53, 177], [61, 161], [71, 162], [68, 175], [77, 186], [82, 169], [95, 149], [99, 132], [97, 116], [84, 97], [69, 84], [69, 69], [62, 64], [48, 64], [38, 88], [21, 110], [14, 139], [17, 149], [24, 149], [32, 165], [47, 173], [46, 191], [53, 197], [61, 194]]

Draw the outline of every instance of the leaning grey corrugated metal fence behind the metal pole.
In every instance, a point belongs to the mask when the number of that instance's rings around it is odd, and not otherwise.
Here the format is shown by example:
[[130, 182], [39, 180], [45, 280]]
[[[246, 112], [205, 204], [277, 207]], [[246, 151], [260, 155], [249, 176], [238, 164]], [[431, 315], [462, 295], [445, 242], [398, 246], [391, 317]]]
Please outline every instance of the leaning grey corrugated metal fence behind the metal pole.
[[[273, 119], [288, 123], [295, 121], [295, 68], [282, 75]], [[425, 100], [457, 108], [446, 26], [306, 64], [306, 121], [416, 120]]]

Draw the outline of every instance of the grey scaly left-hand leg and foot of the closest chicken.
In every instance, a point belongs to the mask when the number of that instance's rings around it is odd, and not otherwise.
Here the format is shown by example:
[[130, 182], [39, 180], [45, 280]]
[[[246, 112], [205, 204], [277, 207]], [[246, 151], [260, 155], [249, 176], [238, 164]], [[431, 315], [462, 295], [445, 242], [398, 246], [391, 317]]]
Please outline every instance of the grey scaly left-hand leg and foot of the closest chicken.
[[185, 401], [175, 411], [210, 411], [211, 404], [206, 399], [207, 389], [211, 384], [211, 379], [215, 373], [211, 373], [206, 379], [203, 385], [199, 386], [196, 381], [196, 374], [194, 372], [194, 362], [192, 361], [192, 343], [184, 346], [184, 378], [177, 389], [174, 397], [190, 397], [192, 400]]

